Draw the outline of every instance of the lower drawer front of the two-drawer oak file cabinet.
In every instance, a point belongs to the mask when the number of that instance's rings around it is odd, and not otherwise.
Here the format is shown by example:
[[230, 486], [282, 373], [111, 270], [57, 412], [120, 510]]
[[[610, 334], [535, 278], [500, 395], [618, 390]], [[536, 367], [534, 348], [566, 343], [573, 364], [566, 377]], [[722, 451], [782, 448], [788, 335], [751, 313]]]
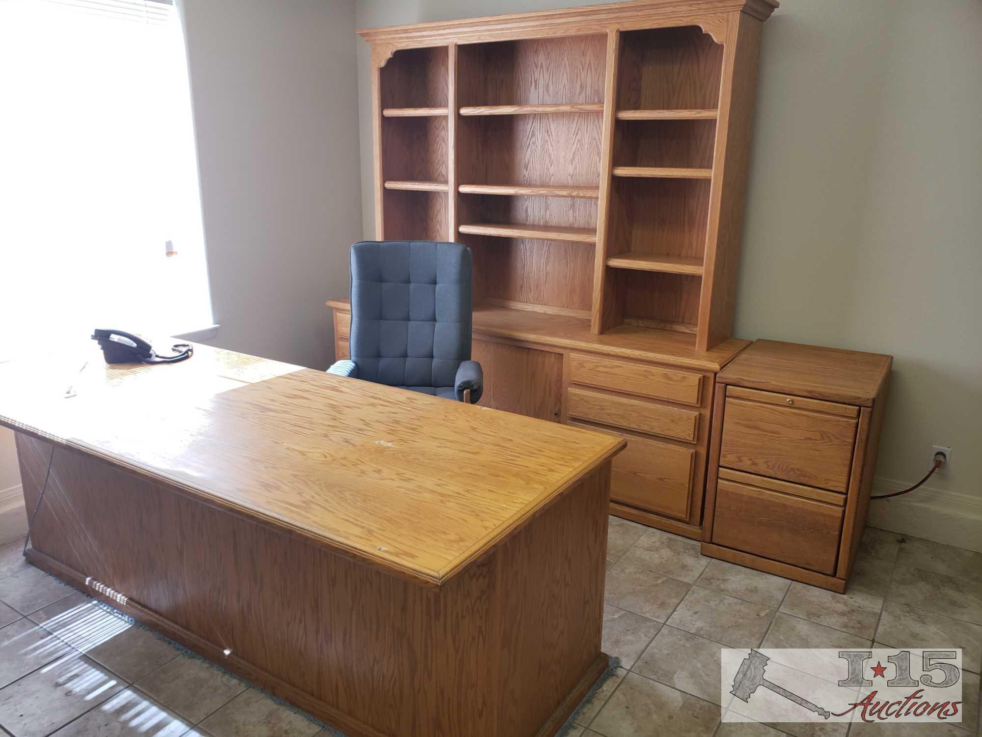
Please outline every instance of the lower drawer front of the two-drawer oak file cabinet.
[[721, 479], [713, 542], [835, 575], [843, 508]]

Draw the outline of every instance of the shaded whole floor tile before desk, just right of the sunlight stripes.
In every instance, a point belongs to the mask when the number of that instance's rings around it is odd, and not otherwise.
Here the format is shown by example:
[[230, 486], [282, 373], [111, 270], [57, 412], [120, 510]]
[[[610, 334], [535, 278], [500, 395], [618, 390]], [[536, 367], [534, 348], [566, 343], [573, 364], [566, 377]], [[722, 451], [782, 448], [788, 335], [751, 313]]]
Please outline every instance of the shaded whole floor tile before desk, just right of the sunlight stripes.
[[246, 690], [245, 684], [190, 655], [174, 658], [137, 681], [136, 687], [195, 723]]

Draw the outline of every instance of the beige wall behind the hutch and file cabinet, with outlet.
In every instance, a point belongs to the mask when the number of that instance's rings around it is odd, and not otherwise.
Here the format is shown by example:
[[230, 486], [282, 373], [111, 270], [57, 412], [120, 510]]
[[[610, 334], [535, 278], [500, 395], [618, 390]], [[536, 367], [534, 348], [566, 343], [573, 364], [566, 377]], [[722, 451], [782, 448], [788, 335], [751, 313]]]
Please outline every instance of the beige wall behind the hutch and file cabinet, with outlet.
[[[358, 28], [584, 5], [360, 0]], [[872, 520], [982, 544], [982, 3], [782, 0], [764, 30], [735, 334], [893, 354]], [[372, 237], [367, 46], [361, 186]], [[881, 489], [885, 490], [885, 489]]]

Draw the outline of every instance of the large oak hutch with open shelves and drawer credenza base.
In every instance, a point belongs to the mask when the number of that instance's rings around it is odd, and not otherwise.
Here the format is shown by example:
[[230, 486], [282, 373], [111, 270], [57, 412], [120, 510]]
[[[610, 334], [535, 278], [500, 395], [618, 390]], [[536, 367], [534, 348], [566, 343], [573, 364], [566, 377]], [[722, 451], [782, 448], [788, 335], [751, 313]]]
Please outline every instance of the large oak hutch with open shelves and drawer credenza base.
[[[361, 30], [375, 236], [474, 257], [481, 404], [626, 437], [612, 511], [698, 538], [772, 0]], [[338, 358], [350, 306], [334, 309]]]

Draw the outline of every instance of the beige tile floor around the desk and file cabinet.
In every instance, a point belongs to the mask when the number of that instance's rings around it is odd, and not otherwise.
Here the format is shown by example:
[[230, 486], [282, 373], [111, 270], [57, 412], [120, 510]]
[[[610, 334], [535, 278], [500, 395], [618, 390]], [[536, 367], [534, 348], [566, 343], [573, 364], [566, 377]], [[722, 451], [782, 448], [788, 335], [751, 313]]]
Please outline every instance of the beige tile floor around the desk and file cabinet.
[[[22, 543], [23, 544], [23, 543]], [[622, 667], [572, 737], [866, 737], [848, 724], [722, 724], [721, 647], [964, 649], [965, 720], [885, 735], [979, 732], [982, 553], [869, 529], [846, 595], [703, 557], [612, 517], [603, 649]], [[851, 731], [849, 731], [851, 729]], [[880, 732], [876, 732], [879, 734]], [[326, 737], [285, 709], [0, 547], [0, 735]]]

